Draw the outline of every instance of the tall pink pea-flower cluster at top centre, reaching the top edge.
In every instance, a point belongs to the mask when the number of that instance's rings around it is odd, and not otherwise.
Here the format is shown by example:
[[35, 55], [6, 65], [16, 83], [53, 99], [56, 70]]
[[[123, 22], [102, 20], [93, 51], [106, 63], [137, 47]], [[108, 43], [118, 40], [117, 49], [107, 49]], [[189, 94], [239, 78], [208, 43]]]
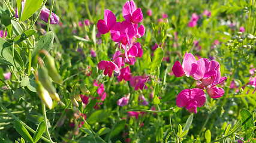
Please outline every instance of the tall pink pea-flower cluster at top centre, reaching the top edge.
[[143, 50], [140, 43], [135, 43], [135, 41], [144, 35], [145, 28], [143, 25], [138, 26], [143, 19], [143, 14], [140, 8], [136, 8], [134, 1], [125, 3], [122, 15], [125, 20], [117, 22], [115, 14], [110, 10], [105, 10], [104, 20], [98, 20], [98, 31], [103, 35], [110, 32], [112, 40], [121, 44], [121, 48], [124, 49], [124, 54], [121, 51], [116, 51], [112, 61], [100, 61], [98, 68], [104, 70], [104, 75], [108, 74], [109, 77], [112, 76], [113, 71], [115, 73], [122, 72], [119, 81], [122, 79], [128, 81], [130, 71], [128, 69], [121, 71], [121, 66], [124, 66], [124, 59], [126, 63], [133, 65], [135, 57], [142, 56]]

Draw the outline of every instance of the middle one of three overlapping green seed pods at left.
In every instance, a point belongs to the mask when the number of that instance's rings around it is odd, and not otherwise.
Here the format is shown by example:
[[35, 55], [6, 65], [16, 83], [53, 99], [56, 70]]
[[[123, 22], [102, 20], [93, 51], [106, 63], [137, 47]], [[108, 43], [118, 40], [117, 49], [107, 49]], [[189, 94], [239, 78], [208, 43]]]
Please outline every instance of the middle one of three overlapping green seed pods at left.
[[50, 97], [53, 100], [59, 101], [59, 95], [56, 93], [56, 89], [50, 81], [50, 77], [48, 75], [48, 70], [46, 69], [46, 67], [41, 66], [38, 69], [38, 79], [42, 83], [44, 88], [49, 92]]

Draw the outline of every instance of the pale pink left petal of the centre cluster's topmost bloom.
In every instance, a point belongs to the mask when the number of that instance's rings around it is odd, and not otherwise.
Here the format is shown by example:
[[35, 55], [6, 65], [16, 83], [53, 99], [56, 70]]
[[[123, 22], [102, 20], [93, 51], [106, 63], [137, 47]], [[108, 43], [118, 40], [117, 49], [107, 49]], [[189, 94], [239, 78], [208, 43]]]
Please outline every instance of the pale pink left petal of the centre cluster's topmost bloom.
[[127, 1], [124, 4], [122, 15], [127, 21], [131, 21], [131, 15], [136, 10], [136, 5], [134, 1]]

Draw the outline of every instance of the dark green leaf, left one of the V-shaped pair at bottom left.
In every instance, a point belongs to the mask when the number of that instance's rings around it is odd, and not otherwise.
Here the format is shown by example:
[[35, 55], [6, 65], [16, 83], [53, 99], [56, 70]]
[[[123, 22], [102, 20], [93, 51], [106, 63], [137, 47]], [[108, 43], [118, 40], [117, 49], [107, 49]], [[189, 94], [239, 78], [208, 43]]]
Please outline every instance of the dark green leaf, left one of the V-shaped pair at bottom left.
[[26, 139], [28, 142], [34, 142], [31, 135], [29, 135], [28, 130], [17, 120], [14, 120], [14, 128], [17, 132]]

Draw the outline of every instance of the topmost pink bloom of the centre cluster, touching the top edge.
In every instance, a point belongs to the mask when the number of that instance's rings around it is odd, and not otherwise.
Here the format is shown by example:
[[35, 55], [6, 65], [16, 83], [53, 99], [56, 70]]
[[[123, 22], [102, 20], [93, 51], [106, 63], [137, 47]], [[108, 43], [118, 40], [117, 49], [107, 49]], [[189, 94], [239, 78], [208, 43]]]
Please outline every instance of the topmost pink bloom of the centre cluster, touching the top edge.
[[143, 19], [143, 14], [140, 8], [136, 8], [134, 1], [127, 1], [124, 4], [122, 15], [125, 20], [130, 23], [140, 23]]

